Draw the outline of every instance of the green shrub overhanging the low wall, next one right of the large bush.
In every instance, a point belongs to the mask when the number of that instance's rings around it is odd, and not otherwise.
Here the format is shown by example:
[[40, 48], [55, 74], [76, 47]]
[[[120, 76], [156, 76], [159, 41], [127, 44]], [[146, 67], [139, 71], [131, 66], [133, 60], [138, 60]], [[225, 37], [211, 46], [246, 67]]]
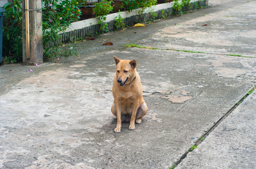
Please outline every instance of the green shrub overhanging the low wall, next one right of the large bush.
[[99, 3], [96, 3], [95, 8], [93, 8], [93, 11], [95, 11], [95, 17], [99, 19], [98, 24], [101, 25], [100, 29], [105, 32], [108, 31], [108, 29], [106, 29], [108, 24], [103, 24], [103, 22], [106, 20], [106, 15], [113, 10], [111, 3], [113, 3], [112, 0], [102, 0]]

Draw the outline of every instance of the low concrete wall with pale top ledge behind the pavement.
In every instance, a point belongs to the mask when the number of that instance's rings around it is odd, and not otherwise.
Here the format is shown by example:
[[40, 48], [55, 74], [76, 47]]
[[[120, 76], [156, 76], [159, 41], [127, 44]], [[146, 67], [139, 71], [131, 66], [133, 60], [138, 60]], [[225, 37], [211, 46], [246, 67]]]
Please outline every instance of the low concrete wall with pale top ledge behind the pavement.
[[[200, 6], [208, 6], [208, 0], [191, 0], [190, 9], [195, 8], [195, 3], [200, 3]], [[131, 26], [136, 23], [139, 23], [139, 21], [150, 21], [152, 19], [150, 12], [155, 12], [157, 14], [155, 19], [162, 18], [162, 11], [164, 11], [165, 17], [171, 16], [173, 12], [173, 6], [174, 2], [170, 2], [159, 4], [151, 8], [146, 8], [142, 16], [138, 14], [138, 9], [132, 12], [122, 11], [121, 17], [123, 18], [123, 23], [125, 23], [125, 25]], [[114, 18], [116, 16], [118, 16], [118, 13], [109, 14], [106, 17], [106, 23], [108, 23], [109, 31], [115, 29], [114, 23], [116, 21], [114, 20]], [[75, 41], [78, 38], [86, 38], [89, 35], [95, 35], [100, 33], [102, 33], [102, 30], [100, 30], [100, 25], [98, 24], [97, 18], [77, 21], [75, 23], [72, 23], [70, 28], [68, 28], [65, 33], [61, 34], [61, 38], [57, 43], [67, 43], [69, 41]]]

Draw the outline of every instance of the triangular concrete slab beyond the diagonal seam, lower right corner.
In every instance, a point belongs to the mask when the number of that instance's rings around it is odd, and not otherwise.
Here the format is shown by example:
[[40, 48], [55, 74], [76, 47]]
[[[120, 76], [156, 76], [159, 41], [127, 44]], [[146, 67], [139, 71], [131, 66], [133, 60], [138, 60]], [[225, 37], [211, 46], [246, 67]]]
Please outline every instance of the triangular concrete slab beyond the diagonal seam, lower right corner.
[[255, 99], [254, 91], [177, 168], [255, 168]]

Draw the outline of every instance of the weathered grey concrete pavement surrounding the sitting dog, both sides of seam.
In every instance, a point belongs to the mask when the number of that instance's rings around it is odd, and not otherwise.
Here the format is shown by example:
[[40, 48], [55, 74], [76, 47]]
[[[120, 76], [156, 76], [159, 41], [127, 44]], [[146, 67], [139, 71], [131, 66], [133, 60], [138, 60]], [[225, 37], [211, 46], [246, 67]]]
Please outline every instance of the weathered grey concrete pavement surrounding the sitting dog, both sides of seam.
[[[169, 168], [180, 161], [256, 83], [256, 1], [209, 5], [81, 42], [69, 60], [0, 66], [0, 168]], [[102, 46], [103, 39], [114, 45]], [[123, 123], [120, 134], [110, 112], [113, 55], [136, 59], [149, 108], [134, 131]], [[255, 168], [255, 105], [254, 91], [177, 168]]]

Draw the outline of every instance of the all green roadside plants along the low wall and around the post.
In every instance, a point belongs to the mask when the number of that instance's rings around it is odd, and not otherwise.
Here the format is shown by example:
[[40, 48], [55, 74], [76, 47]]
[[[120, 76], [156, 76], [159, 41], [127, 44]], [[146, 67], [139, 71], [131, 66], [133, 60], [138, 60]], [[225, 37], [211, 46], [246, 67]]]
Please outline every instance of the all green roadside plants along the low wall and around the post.
[[[174, 0], [173, 14], [167, 14], [161, 11], [161, 18], [170, 15], [182, 15], [188, 12], [191, 7], [191, 0]], [[133, 11], [139, 8], [139, 15], [148, 7], [156, 5], [157, 0], [123, 0], [122, 11]], [[72, 45], [60, 44], [58, 41], [72, 22], [80, 20], [82, 15], [81, 7], [91, 3], [91, 0], [42, 0], [42, 46], [44, 50], [44, 60], [54, 58], [68, 58], [72, 55], [77, 55], [76, 41], [71, 41]], [[108, 24], [104, 23], [106, 15], [113, 10], [112, 0], [102, 0], [95, 4], [95, 17], [99, 19], [100, 32], [108, 32]], [[22, 0], [14, 0], [12, 3], [6, 3], [3, 7], [6, 10], [3, 23], [3, 63], [10, 64], [22, 61]], [[194, 3], [194, 7], [200, 8], [200, 1]], [[121, 12], [114, 19], [116, 30], [124, 30], [127, 25], [123, 23]], [[148, 11], [151, 16], [151, 21], [156, 19], [156, 13], [153, 8]], [[147, 24], [150, 24], [149, 21]], [[138, 21], [139, 22], [139, 21]], [[79, 40], [82, 40], [80, 38]], [[154, 49], [154, 48], [152, 48]]]

